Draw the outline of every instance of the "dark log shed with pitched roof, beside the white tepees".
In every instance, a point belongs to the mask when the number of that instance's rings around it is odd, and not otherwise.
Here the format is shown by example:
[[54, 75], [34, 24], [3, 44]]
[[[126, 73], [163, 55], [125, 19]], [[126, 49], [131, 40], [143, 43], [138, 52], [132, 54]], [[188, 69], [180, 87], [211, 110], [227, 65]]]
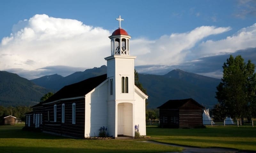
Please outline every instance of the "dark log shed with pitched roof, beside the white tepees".
[[203, 125], [204, 106], [194, 99], [169, 100], [159, 108], [160, 127], [195, 128]]

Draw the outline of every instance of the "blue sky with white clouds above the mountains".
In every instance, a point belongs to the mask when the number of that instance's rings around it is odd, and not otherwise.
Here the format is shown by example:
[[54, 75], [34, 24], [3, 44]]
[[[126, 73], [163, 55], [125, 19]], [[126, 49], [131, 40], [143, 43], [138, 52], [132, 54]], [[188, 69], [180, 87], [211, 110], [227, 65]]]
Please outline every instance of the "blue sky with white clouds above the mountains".
[[256, 64], [256, 0], [1, 0], [0, 70], [35, 79], [107, 65], [119, 15], [139, 73], [221, 78], [230, 55]]

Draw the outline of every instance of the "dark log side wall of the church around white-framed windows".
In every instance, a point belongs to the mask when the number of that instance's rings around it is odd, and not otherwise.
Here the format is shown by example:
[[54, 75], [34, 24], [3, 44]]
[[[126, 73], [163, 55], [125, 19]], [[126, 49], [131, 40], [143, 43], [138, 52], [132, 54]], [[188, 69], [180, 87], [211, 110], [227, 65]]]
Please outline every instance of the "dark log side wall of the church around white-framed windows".
[[[72, 124], [72, 104], [76, 103], [76, 124]], [[65, 104], [65, 121], [62, 123], [61, 109]], [[54, 122], [54, 105], [57, 105], [56, 122]], [[48, 120], [49, 111], [49, 120]], [[44, 132], [57, 135], [84, 138], [85, 124], [84, 98], [62, 100], [51, 104], [44, 104], [43, 122]]]

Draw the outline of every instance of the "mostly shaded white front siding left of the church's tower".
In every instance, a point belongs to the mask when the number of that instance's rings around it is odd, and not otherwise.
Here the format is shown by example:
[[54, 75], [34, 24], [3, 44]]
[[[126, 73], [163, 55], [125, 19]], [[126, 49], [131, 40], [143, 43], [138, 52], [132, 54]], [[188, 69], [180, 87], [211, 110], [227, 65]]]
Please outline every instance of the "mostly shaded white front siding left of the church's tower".
[[86, 95], [85, 137], [98, 136], [100, 127], [107, 127], [108, 82]]

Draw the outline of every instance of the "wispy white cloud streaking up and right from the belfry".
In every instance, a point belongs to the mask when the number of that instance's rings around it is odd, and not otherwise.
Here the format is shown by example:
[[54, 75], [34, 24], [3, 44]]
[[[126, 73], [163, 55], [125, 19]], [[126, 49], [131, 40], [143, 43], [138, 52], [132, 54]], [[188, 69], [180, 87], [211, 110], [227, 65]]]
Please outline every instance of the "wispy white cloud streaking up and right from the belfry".
[[[230, 27], [201, 26], [187, 33], [172, 33], [164, 35], [154, 41], [136, 40], [141, 44], [133, 44], [131, 41], [131, 50], [135, 55], [140, 55], [136, 64], [170, 64], [186, 61], [186, 55], [189, 49], [195, 47], [196, 43], [209, 35], [215, 35], [229, 31]], [[146, 43], [143, 43], [143, 42]], [[145, 47], [148, 52], [141, 55], [141, 46]]]

